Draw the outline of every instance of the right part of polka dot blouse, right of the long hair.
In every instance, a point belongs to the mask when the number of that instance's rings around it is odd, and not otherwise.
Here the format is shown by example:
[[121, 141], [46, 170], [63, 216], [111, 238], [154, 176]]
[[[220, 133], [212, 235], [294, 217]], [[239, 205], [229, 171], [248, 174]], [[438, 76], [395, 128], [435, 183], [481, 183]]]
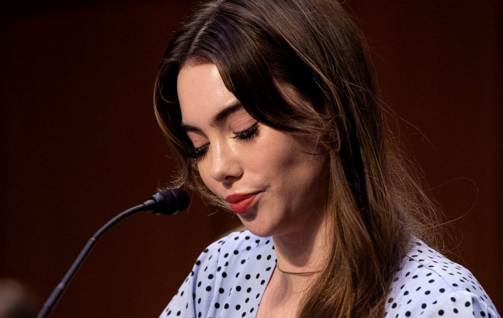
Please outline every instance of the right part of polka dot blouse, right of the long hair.
[[386, 317], [499, 317], [474, 275], [418, 239], [397, 269]]

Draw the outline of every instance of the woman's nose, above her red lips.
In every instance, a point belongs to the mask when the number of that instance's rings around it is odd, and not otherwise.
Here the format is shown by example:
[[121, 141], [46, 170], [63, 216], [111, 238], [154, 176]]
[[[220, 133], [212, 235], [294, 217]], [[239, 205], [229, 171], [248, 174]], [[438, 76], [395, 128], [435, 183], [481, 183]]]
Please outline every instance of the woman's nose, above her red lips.
[[213, 142], [211, 152], [211, 177], [222, 183], [233, 182], [243, 174], [239, 153], [226, 142]]

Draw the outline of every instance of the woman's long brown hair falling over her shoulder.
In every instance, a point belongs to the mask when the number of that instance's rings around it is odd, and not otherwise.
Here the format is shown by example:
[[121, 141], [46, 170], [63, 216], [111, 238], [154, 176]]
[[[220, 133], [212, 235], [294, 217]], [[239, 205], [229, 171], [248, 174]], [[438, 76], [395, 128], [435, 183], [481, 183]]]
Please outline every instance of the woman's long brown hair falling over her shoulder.
[[[156, 116], [178, 163], [178, 186], [223, 205], [203, 184], [180, 129], [176, 78], [185, 63], [217, 65], [227, 89], [256, 120], [312, 136], [328, 163], [333, 224], [329, 262], [299, 317], [382, 316], [411, 235], [434, 210], [392, 142], [364, 38], [329, 0], [217, 0], [176, 33], [161, 62]], [[307, 103], [293, 105], [279, 83]]]

